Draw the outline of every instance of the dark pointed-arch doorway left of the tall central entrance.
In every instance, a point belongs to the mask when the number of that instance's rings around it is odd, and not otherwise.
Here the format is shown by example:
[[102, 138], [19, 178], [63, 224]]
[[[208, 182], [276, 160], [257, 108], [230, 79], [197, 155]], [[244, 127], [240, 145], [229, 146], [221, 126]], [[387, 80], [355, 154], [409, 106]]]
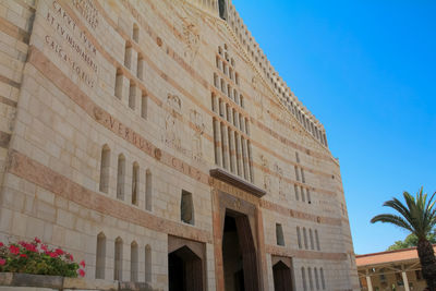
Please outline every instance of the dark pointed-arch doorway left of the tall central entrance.
[[203, 291], [203, 263], [187, 246], [168, 254], [169, 291]]

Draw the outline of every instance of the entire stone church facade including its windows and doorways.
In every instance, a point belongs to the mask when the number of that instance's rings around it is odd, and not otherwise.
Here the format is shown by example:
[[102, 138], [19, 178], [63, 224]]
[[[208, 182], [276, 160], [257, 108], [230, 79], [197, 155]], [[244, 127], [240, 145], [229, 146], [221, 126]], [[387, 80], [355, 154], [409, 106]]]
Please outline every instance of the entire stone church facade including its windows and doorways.
[[323, 124], [230, 0], [0, 1], [0, 234], [153, 290], [358, 290]]

